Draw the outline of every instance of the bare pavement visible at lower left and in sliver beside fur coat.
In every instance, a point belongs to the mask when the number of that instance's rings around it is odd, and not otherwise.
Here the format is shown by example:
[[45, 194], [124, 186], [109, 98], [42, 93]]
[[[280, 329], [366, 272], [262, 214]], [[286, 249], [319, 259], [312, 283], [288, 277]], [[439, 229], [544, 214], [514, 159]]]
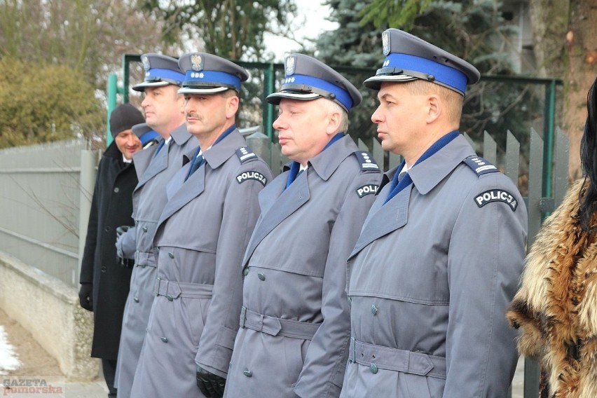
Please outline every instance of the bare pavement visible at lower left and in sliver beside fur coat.
[[[34, 341], [28, 331], [8, 318], [2, 310], [0, 310], [0, 324], [4, 326], [8, 342], [14, 346], [16, 355], [22, 362], [20, 368], [14, 371], [0, 369], [0, 380], [2, 380], [0, 397], [107, 397], [108, 389], [101, 375], [90, 383], [65, 383], [57, 362]], [[523, 369], [524, 361], [520, 359], [512, 381], [512, 398], [523, 398]], [[12, 387], [7, 389], [7, 384], [12, 384]], [[46, 390], [43, 390], [44, 388]]]

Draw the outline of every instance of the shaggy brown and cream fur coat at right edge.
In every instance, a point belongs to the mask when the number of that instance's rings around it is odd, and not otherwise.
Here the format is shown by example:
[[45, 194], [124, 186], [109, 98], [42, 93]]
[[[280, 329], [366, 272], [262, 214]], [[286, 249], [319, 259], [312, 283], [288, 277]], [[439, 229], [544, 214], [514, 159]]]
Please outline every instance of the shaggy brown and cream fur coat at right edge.
[[520, 354], [541, 364], [542, 397], [597, 397], [597, 245], [594, 229], [579, 224], [582, 186], [570, 187], [537, 234], [507, 312], [521, 330]]

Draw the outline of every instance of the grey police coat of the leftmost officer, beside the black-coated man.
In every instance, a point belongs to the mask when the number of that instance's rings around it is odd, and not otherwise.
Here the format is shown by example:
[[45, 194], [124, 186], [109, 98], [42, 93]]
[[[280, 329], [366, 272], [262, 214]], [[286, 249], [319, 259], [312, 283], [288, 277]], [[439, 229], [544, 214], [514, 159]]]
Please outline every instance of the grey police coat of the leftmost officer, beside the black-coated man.
[[122, 237], [133, 237], [136, 252], [116, 364], [114, 385], [118, 388], [118, 397], [130, 396], [132, 378], [135, 376], [153, 302], [153, 284], [156, 280], [156, 249], [153, 246], [153, 236], [167, 202], [166, 184], [182, 167], [182, 154], [198, 146], [197, 140], [192, 139], [193, 136], [186, 131], [186, 125], [179, 126], [170, 136], [170, 143], [163, 146], [157, 154], [158, 146], [154, 145], [138, 154], [135, 153], [133, 157], [135, 165], [138, 160], [139, 168], [144, 172], [132, 193], [132, 218], [135, 220], [135, 228], [131, 228]]

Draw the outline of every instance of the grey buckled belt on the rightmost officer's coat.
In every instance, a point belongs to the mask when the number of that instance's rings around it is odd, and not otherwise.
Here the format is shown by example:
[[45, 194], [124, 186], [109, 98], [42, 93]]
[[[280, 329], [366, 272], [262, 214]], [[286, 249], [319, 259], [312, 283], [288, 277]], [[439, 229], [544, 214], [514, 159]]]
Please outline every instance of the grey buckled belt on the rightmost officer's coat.
[[446, 358], [444, 357], [362, 343], [356, 341], [354, 337], [350, 338], [348, 359], [350, 362], [365, 366], [375, 365], [379, 369], [446, 378]]

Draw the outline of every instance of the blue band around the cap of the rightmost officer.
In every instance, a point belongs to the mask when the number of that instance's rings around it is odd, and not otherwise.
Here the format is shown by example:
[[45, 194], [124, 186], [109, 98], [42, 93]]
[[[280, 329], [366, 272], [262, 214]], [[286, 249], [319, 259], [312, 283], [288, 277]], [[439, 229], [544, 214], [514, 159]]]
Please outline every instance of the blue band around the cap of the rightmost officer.
[[433, 75], [439, 83], [465, 92], [467, 90], [467, 75], [458, 69], [439, 64], [438, 62], [416, 57], [415, 55], [391, 53], [385, 57], [383, 67], [393, 67]]

